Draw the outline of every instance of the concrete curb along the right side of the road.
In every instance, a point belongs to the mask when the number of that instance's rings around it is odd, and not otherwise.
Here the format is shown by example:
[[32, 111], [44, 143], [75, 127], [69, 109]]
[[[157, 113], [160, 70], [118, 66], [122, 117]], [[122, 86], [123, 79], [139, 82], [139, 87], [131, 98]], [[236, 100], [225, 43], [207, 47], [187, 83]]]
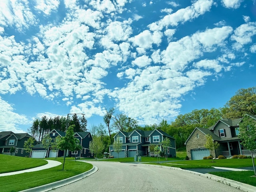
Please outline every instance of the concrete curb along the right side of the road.
[[232, 186], [234, 188], [240, 189], [244, 192], [256, 192], [256, 187], [255, 186], [248, 185], [248, 184], [245, 184], [245, 183], [241, 183], [241, 182], [238, 182], [238, 181], [234, 181], [234, 180], [231, 180], [231, 179], [227, 179], [227, 178], [224, 178], [224, 177], [208, 174], [208, 173], [203, 174], [203, 173], [198, 173], [198, 172], [195, 172], [195, 171], [185, 170], [185, 169], [182, 169], [182, 168], [161, 166], [161, 165], [152, 165], [152, 164], [143, 164], [143, 165], [157, 166], [157, 167], [161, 167], [161, 168], [168, 168], [168, 169], [173, 169], [173, 170], [186, 171], [186, 172], [190, 172], [192, 174], [196, 174], [196, 175], [199, 175], [199, 176], [206, 177], [206, 178], [211, 179], [211, 180], [215, 180], [217, 182], [221, 182], [223, 184], [226, 184], [226, 185]]

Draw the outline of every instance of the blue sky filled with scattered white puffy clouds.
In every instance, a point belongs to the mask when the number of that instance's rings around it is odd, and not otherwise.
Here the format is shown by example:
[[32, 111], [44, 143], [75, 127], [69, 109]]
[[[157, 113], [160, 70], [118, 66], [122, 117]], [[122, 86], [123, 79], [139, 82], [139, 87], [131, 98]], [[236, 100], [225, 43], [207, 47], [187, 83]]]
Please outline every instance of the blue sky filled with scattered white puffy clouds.
[[256, 86], [255, 0], [2, 0], [0, 131], [114, 107], [140, 125]]

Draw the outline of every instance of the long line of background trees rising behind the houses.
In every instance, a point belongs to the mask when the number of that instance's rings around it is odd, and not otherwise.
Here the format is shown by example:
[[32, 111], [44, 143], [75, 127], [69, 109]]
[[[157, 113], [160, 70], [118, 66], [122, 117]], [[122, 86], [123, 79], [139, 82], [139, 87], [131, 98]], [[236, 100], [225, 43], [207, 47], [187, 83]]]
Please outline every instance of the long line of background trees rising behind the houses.
[[[108, 146], [110, 144], [113, 144], [113, 136], [118, 130], [130, 132], [135, 129], [160, 129], [169, 134], [170, 136], [173, 136], [176, 140], [176, 149], [182, 150], [185, 148], [184, 143], [186, 142], [194, 128], [209, 128], [220, 119], [241, 118], [244, 114], [256, 115], [256, 87], [238, 90], [236, 94], [232, 96], [222, 108], [211, 108], [210, 110], [195, 109], [192, 110], [192, 112], [190, 113], [178, 115], [177, 118], [170, 123], [168, 123], [166, 119], [163, 119], [159, 124], [140, 126], [138, 125], [137, 120], [130, 118], [125, 114], [115, 114], [114, 108], [110, 108], [108, 110], [106, 109], [105, 115], [103, 117], [105, 125], [93, 125], [88, 129], [88, 131], [90, 131], [93, 137], [100, 138], [105, 146], [105, 152], [108, 152]], [[56, 118], [58, 118], [58, 120]], [[68, 121], [69, 125], [75, 125], [74, 132], [87, 131], [87, 120], [84, 117], [81, 118], [83, 120], [80, 120], [80, 118], [77, 118], [76, 116], [72, 117]], [[49, 130], [52, 130], [53, 128], [55, 128], [56, 130], [65, 131], [65, 117], [55, 117], [54, 119], [50, 118], [51, 120], [48, 119], [48, 121], [46, 121], [45, 119], [47, 118], [44, 116], [41, 120], [34, 120], [33, 126], [32, 128], [30, 128], [29, 132], [32, 134], [32, 136], [36, 135], [37, 137], [39, 136], [39, 138], [42, 139], [44, 134]], [[44, 127], [47, 128], [44, 129]], [[35, 132], [32, 132], [34, 130]]]

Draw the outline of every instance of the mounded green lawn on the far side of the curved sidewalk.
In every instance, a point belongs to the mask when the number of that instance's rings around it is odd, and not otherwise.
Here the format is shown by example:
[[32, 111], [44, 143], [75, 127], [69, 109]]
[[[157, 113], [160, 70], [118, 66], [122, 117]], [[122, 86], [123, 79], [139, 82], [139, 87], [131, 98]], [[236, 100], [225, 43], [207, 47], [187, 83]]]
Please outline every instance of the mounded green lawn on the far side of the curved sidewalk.
[[24, 158], [19, 156], [10, 156], [3, 154], [0, 154], [0, 162], [1, 164], [4, 164], [4, 166], [0, 166], [0, 173], [30, 169], [48, 163], [47, 161], [42, 159]]

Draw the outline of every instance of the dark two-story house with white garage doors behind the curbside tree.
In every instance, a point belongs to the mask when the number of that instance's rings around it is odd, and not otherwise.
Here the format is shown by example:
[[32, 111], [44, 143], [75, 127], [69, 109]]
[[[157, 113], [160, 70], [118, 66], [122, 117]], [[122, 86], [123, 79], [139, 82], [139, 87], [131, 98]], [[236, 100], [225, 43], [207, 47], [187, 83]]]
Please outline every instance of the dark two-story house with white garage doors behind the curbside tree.
[[[65, 132], [53, 129], [49, 133], [52, 138], [52, 142], [56, 139], [57, 136], [63, 137], [66, 135]], [[79, 144], [82, 146], [80, 151], [68, 151], [67, 156], [76, 156], [76, 157], [88, 157], [92, 158], [92, 154], [89, 150], [89, 144], [92, 141], [92, 136], [90, 132], [75, 132], [74, 137], [78, 138]], [[42, 144], [38, 144], [32, 149], [32, 158], [45, 158], [45, 157], [61, 157], [64, 156], [63, 150], [49, 150], [45, 149]]]

